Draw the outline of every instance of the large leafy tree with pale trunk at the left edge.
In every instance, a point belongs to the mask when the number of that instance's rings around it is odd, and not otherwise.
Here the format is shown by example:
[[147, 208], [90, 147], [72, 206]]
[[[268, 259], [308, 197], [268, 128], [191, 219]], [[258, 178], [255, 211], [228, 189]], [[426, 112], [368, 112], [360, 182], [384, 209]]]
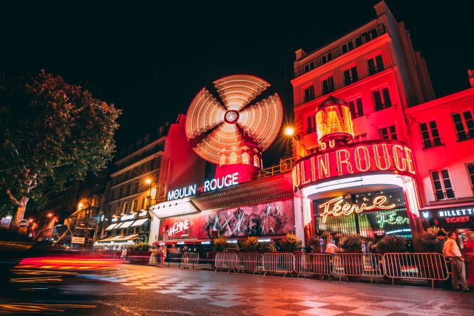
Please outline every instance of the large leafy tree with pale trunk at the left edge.
[[0, 79], [0, 192], [17, 207], [12, 225], [30, 198], [105, 168], [120, 113], [44, 70]]

